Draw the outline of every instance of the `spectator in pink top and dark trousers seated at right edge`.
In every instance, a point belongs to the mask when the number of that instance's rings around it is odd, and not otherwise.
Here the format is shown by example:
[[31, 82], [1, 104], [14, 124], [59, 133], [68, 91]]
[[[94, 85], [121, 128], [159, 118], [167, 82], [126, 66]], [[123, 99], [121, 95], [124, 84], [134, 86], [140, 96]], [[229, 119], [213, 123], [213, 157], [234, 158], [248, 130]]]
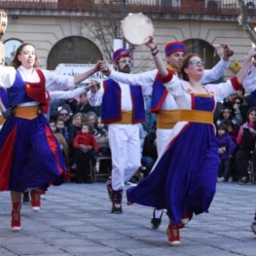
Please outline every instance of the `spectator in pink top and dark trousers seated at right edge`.
[[251, 184], [249, 173], [247, 170], [247, 161], [252, 159], [253, 166], [256, 166], [255, 151], [255, 135], [256, 135], [256, 108], [250, 108], [247, 112], [246, 123], [239, 128], [237, 143], [240, 145], [236, 154], [236, 161], [242, 178], [238, 182], [239, 185]]

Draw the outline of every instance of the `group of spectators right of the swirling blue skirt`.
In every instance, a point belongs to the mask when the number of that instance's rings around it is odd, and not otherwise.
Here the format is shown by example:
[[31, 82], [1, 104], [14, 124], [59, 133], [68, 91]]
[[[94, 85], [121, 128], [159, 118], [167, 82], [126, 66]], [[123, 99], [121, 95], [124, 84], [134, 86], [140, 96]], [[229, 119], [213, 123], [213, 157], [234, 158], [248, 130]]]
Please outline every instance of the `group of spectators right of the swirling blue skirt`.
[[218, 103], [214, 113], [219, 146], [218, 182], [251, 184], [256, 166], [256, 108], [251, 94], [232, 93]]

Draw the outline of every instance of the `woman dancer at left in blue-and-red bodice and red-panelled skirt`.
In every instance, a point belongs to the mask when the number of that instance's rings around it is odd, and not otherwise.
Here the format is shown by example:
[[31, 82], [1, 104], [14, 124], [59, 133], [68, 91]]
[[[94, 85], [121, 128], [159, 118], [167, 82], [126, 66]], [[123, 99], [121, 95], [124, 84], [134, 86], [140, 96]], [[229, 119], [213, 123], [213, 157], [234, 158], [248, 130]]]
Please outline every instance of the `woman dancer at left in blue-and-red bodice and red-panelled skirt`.
[[[18, 47], [11, 66], [0, 66], [0, 84], [7, 88], [8, 101], [15, 106], [0, 133], [0, 191], [11, 191], [12, 230], [20, 229], [20, 197], [31, 190], [31, 209], [40, 209], [40, 189], [60, 185], [69, 178], [64, 159], [43, 111], [46, 90], [73, 89], [91, 76], [97, 65], [75, 78], [35, 69], [39, 64], [35, 47]], [[22, 166], [22, 167], [20, 167]]]

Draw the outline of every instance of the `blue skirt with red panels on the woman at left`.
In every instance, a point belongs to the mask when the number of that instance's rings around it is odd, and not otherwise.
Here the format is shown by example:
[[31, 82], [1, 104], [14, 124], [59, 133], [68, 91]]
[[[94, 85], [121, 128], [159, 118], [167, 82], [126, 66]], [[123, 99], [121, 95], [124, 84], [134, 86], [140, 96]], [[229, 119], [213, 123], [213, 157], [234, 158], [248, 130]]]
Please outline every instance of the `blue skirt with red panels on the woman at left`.
[[0, 191], [60, 185], [68, 178], [59, 144], [45, 116], [11, 116], [0, 132]]

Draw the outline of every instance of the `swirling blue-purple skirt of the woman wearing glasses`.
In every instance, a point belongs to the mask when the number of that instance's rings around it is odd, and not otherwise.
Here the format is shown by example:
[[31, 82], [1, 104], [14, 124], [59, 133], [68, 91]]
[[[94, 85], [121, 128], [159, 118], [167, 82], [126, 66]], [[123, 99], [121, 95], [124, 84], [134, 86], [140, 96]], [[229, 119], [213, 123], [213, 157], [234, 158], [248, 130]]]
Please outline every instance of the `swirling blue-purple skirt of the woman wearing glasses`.
[[218, 147], [211, 125], [192, 123], [170, 141], [152, 172], [127, 191], [128, 201], [167, 209], [173, 224], [188, 211], [207, 211], [218, 172]]

